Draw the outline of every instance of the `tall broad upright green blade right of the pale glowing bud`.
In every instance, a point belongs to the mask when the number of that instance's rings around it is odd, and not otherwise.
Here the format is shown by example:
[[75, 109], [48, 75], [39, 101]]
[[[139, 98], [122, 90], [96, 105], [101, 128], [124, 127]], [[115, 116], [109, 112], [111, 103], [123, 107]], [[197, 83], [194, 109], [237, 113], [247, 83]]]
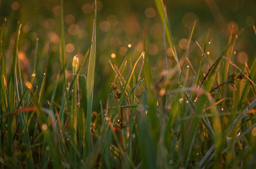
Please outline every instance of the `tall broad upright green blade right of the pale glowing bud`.
[[[95, 61], [96, 61], [96, 1], [95, 1], [95, 15], [93, 23], [92, 45], [90, 50], [89, 66], [87, 73], [87, 115], [86, 115], [86, 152], [88, 155], [91, 150], [91, 122], [92, 122], [92, 109], [93, 109], [93, 86], [95, 74]], [[85, 160], [85, 157], [84, 157]]]

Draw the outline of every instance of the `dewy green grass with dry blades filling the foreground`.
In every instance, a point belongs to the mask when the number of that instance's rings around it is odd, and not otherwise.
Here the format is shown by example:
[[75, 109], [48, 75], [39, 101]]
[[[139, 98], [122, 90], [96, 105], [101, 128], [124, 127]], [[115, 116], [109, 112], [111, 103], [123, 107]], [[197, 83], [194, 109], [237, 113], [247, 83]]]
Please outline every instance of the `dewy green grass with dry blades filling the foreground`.
[[[256, 165], [256, 59], [251, 64], [234, 62], [234, 47], [240, 34], [231, 29], [222, 54], [214, 61], [207, 54], [209, 35], [205, 36], [204, 44], [196, 42], [202, 55], [198, 56], [200, 64], [195, 67], [189, 53], [196, 21], [188, 36], [187, 50], [178, 57], [164, 4], [158, 0], [155, 3], [163, 24], [164, 42], [167, 38], [175, 64], [168, 62], [164, 43], [164, 73], [157, 80], [152, 78], [148, 35], [144, 33], [144, 51], [137, 54], [130, 50], [119, 63], [109, 62], [112, 81], [108, 97], [101, 100], [94, 99], [95, 95], [101, 96], [94, 89], [96, 10], [91, 46], [81, 60], [74, 56], [69, 79], [61, 1], [61, 66], [52, 88], [46, 85], [51, 76], [47, 71], [52, 57], [51, 40], [42, 74], [35, 71], [37, 39], [33, 73], [24, 78], [18, 57], [22, 25], [18, 23], [12, 66], [7, 73], [6, 20], [3, 22], [1, 168], [253, 168]], [[255, 35], [251, 36], [256, 38]], [[87, 63], [88, 73], [83, 78], [81, 70]], [[37, 76], [42, 79], [38, 88], [34, 80]], [[43, 104], [47, 90], [51, 91], [51, 99]], [[59, 96], [58, 91], [62, 92]], [[99, 112], [94, 111], [95, 102]]]

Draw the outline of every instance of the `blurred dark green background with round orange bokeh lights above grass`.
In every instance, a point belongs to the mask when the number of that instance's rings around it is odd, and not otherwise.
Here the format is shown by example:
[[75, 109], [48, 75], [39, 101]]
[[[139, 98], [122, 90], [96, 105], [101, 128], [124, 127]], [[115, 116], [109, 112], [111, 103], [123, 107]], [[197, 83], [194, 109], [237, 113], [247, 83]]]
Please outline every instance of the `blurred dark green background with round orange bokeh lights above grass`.
[[[197, 20], [191, 43], [189, 60], [195, 68], [201, 59], [201, 51], [195, 44], [198, 41], [203, 47], [206, 35], [209, 34], [210, 45], [207, 54], [211, 63], [225, 51], [231, 26], [234, 33], [241, 32], [233, 59], [238, 65], [253, 61], [256, 55], [256, 41], [253, 31], [256, 19], [256, 1], [254, 0], [180, 0], [163, 1], [166, 5], [168, 20], [171, 24], [174, 43], [181, 58], [187, 49], [187, 39], [191, 27]], [[65, 40], [66, 57], [69, 70], [75, 54], [81, 58], [91, 44], [94, 1], [65, 0]], [[60, 0], [0, 0], [0, 21], [7, 18], [4, 48], [7, 64], [11, 64], [17, 22], [22, 23], [19, 40], [19, 58], [25, 74], [31, 75], [36, 39], [39, 38], [37, 82], [40, 84], [45, 66], [48, 45], [50, 47], [48, 85], [56, 79], [60, 70]], [[131, 52], [137, 58], [143, 50], [143, 32], [148, 40], [148, 58], [153, 78], [164, 69], [163, 26], [155, 2], [148, 1], [97, 1], [97, 63], [95, 92], [100, 93], [97, 102], [108, 95], [113, 70], [109, 64], [118, 64], [122, 57]], [[167, 46], [169, 68], [175, 65], [172, 52]], [[243, 67], [242, 67], [243, 68]], [[82, 73], [86, 74], [87, 68]], [[28, 78], [24, 77], [24, 78]], [[46, 95], [46, 97], [48, 97]], [[103, 97], [103, 98], [102, 98]], [[98, 103], [96, 103], [98, 104]]]

